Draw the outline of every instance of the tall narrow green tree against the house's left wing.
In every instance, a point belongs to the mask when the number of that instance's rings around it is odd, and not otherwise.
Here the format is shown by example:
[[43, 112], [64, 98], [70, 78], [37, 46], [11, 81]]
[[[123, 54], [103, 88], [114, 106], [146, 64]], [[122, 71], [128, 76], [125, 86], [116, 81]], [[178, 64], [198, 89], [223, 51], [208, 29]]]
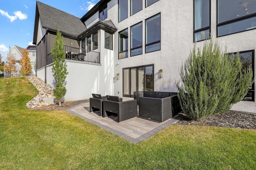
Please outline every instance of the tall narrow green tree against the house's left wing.
[[57, 36], [55, 39], [55, 47], [52, 49], [52, 72], [54, 76], [54, 90], [53, 96], [58, 100], [59, 106], [61, 106], [62, 98], [66, 94], [66, 77], [67, 77], [67, 65], [65, 62], [65, 52], [63, 51], [63, 40], [60, 30], [57, 30]]

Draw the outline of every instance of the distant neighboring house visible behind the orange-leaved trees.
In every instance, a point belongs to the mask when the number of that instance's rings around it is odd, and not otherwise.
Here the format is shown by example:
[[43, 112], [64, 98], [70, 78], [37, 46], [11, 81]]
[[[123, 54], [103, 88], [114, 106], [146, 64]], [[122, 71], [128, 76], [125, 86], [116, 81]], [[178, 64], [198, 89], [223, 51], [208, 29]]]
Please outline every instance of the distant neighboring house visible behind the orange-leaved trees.
[[[31, 63], [31, 66], [32, 66], [32, 72], [31, 72], [30, 75], [35, 75], [36, 71], [34, 69], [34, 63], [36, 62], [36, 46], [35, 45], [29, 45], [27, 47], [27, 49], [28, 49], [28, 53], [29, 53], [28, 57], [30, 58], [30, 63]], [[22, 51], [23, 51], [23, 48], [18, 47], [17, 45], [14, 45], [11, 49], [11, 53], [16, 58], [16, 69], [18, 70], [17, 74], [20, 74], [19, 70], [21, 68], [20, 59], [22, 58]], [[6, 57], [7, 57], [7, 55], [6, 55]], [[14, 76], [15, 76], [15, 74], [14, 74]]]

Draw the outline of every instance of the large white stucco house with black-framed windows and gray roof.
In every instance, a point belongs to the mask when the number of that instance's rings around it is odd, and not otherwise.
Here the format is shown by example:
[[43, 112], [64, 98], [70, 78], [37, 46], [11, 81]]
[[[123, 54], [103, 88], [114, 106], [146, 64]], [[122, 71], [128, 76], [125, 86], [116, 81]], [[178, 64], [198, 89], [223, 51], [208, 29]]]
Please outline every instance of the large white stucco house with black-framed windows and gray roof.
[[[100, 0], [82, 18], [37, 1], [37, 75], [51, 86], [50, 51], [57, 27], [64, 36], [69, 72], [66, 101], [92, 93], [133, 97], [140, 90], [177, 92], [182, 63], [210, 35], [227, 45], [227, 53], [239, 51], [255, 75], [256, 1]], [[232, 109], [256, 113], [255, 96], [254, 83]]]

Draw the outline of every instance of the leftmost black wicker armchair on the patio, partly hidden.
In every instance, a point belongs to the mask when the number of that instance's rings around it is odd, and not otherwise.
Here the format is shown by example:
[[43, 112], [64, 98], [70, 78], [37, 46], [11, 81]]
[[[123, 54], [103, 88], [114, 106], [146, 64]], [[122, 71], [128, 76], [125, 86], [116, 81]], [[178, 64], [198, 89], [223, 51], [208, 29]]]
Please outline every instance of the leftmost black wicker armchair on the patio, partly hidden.
[[101, 96], [100, 94], [92, 94], [92, 98], [90, 98], [90, 112], [100, 111], [100, 115], [102, 116], [103, 100], [107, 100], [107, 97]]

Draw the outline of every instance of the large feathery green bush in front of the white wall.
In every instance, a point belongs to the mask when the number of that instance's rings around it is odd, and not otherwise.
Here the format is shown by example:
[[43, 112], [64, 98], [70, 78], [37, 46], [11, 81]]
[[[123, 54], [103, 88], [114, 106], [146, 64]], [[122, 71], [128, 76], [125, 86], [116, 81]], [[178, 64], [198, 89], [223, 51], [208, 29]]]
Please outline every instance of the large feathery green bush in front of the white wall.
[[244, 98], [252, 85], [252, 70], [242, 72], [239, 55], [230, 57], [225, 52], [210, 40], [202, 50], [194, 47], [181, 66], [182, 83], [176, 82], [178, 98], [184, 115], [190, 119], [225, 113]]

